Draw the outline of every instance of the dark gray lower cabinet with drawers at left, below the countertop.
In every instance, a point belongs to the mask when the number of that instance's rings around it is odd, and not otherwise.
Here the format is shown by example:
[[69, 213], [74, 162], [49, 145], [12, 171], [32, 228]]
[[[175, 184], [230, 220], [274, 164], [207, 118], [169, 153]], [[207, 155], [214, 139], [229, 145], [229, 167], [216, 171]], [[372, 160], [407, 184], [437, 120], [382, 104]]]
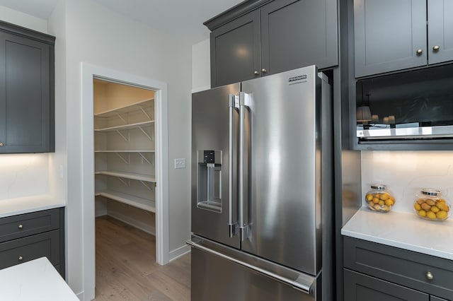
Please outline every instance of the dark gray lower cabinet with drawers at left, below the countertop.
[[42, 256], [64, 278], [64, 208], [0, 218], [0, 268]]

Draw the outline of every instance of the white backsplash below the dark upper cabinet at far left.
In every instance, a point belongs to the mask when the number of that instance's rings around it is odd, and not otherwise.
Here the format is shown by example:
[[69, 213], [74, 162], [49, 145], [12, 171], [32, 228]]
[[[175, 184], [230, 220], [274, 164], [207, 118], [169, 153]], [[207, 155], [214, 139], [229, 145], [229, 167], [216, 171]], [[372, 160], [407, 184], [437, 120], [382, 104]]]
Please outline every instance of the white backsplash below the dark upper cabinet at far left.
[[49, 155], [0, 155], [0, 201], [49, 194]]

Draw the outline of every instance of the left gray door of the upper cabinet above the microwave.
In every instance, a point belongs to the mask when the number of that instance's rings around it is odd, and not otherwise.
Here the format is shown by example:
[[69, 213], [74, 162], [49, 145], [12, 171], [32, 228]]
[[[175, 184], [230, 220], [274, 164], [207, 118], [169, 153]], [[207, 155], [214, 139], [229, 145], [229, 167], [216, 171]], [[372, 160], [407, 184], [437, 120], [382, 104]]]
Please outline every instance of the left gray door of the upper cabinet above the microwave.
[[354, 42], [355, 77], [427, 64], [425, 0], [354, 0]]

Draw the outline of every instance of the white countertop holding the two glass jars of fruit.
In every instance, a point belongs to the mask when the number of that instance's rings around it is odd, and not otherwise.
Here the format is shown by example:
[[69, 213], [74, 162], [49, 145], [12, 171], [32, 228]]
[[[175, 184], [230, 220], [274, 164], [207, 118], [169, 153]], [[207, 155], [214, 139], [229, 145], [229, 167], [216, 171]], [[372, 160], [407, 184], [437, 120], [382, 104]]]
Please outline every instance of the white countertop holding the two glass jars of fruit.
[[379, 213], [362, 207], [341, 234], [453, 260], [452, 216], [434, 222], [418, 218], [415, 213]]

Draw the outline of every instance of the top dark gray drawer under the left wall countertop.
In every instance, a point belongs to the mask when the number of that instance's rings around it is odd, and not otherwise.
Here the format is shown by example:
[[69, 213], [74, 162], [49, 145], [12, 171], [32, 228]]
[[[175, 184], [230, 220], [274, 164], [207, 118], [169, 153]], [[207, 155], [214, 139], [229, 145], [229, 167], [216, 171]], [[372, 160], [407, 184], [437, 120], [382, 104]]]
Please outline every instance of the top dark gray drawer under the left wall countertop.
[[59, 228], [59, 208], [0, 218], [0, 242]]

